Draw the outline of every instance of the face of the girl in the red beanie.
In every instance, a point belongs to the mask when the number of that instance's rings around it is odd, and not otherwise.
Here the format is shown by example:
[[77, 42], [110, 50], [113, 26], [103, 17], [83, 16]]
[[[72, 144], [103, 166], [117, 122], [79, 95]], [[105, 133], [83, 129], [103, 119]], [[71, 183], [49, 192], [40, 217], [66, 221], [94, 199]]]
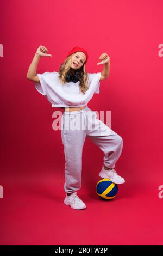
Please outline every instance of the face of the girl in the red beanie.
[[86, 60], [86, 55], [84, 52], [75, 52], [72, 56], [71, 68], [74, 70], [78, 70], [83, 66]]

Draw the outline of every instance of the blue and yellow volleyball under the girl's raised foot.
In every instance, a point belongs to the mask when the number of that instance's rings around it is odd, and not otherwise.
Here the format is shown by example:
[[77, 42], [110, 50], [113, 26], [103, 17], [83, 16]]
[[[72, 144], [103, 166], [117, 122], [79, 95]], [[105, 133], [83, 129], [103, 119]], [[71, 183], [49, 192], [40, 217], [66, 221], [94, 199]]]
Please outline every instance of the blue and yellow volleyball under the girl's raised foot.
[[106, 200], [111, 200], [118, 193], [118, 186], [110, 179], [102, 179], [97, 182], [96, 193], [99, 197]]

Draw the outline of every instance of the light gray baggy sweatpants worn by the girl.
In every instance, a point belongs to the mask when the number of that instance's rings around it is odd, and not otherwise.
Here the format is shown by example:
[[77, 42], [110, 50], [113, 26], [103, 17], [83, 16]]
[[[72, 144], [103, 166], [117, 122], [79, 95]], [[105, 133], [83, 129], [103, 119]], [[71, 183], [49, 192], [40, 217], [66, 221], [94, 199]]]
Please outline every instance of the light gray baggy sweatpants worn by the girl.
[[80, 111], [63, 112], [61, 120], [61, 139], [65, 154], [64, 189], [66, 193], [72, 193], [82, 186], [82, 151], [85, 137], [103, 151], [103, 164], [108, 168], [115, 168], [122, 152], [123, 140], [97, 119], [96, 112], [88, 106]]

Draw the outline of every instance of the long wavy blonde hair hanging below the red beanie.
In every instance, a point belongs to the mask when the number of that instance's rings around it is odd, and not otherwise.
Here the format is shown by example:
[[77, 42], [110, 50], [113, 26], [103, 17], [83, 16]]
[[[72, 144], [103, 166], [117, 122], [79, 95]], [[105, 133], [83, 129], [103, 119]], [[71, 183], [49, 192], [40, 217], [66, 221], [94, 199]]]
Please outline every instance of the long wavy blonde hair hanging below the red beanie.
[[[74, 54], [76, 54], [76, 53], [73, 53], [70, 56], [68, 56], [66, 58], [66, 60], [60, 65], [59, 79], [62, 84], [66, 83], [66, 75], [71, 68], [71, 63], [72, 63], [71, 58]], [[85, 94], [86, 90], [89, 89], [89, 87], [87, 87], [88, 86], [88, 76], [87, 76], [87, 72], [85, 70], [85, 63], [83, 64], [83, 66], [80, 67], [80, 69], [78, 69], [78, 71], [80, 71], [80, 74], [82, 75], [81, 76], [82, 78], [80, 79], [79, 87], [80, 87], [81, 92], [83, 94]]]

